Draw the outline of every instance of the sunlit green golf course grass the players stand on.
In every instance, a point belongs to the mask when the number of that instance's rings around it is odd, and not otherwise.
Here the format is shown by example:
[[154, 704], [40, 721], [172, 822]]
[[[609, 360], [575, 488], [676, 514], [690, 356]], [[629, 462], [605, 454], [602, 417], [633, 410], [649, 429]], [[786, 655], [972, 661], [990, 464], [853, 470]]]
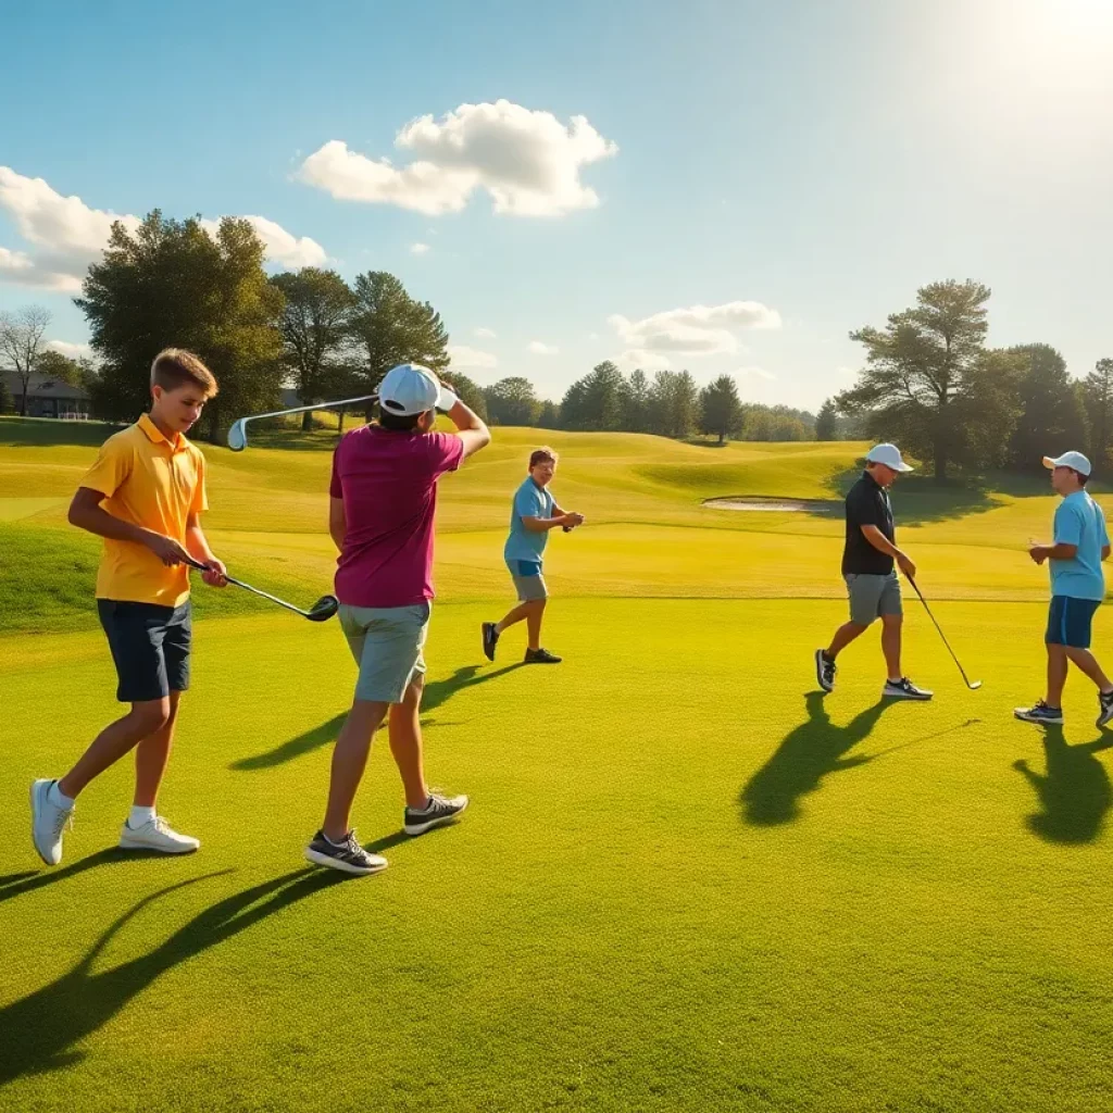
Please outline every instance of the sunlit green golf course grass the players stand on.
[[[423, 718], [432, 781], [472, 796], [462, 823], [400, 834], [380, 738], [356, 821], [391, 868], [309, 869], [343, 638], [198, 584], [160, 810], [201, 851], [111, 849], [121, 764], [46, 870], [28, 782], [116, 712], [97, 542], [63, 522], [108, 432], [0, 422], [0, 1109], [1113, 1106], [1113, 752], [1076, 678], [1065, 731], [1011, 718], [1042, 684], [1038, 483], [898, 489], [922, 587], [985, 687], [909, 599], [907, 667], [937, 697], [886, 707], [873, 633], [814, 691], [845, 613], [841, 521], [699, 505], [837, 498], [860, 446], [551, 434], [558, 499], [590, 524], [549, 550], [565, 663], [526, 669], [520, 631], [495, 664], [479, 653], [538, 436], [498, 430], [441, 494]], [[332, 564], [331, 437], [307, 440], [206, 447], [215, 548], [303, 603]]]

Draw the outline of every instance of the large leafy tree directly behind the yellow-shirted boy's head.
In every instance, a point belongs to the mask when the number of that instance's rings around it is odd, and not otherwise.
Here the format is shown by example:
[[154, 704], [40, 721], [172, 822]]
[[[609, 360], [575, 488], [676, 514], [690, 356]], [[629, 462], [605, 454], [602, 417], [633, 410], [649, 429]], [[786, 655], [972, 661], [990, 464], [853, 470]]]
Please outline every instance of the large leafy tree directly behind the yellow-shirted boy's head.
[[130, 420], [145, 410], [150, 364], [164, 347], [196, 352], [216, 375], [220, 393], [201, 423], [209, 439], [243, 414], [273, 408], [283, 376], [283, 295], [267, 280], [263, 256], [246, 220], [226, 217], [215, 235], [197, 219], [158, 210], [134, 234], [115, 224], [75, 298], [101, 358], [98, 412]]

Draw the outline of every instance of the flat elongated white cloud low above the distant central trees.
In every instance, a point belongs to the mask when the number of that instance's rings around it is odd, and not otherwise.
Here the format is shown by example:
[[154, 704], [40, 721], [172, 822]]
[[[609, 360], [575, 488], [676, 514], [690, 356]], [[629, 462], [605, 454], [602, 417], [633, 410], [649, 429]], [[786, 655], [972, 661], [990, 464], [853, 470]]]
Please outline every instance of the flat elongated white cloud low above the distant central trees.
[[630, 321], [620, 314], [607, 319], [630, 348], [688, 356], [737, 354], [741, 345], [735, 331], [780, 328], [781, 324], [780, 314], [760, 302], [693, 305], [654, 313], [641, 321]]

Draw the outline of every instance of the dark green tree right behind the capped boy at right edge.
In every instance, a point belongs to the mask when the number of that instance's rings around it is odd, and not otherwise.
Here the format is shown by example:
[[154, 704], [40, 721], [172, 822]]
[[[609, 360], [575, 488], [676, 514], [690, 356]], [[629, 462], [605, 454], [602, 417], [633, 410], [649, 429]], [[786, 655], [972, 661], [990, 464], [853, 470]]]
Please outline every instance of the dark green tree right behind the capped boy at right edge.
[[1020, 382], [1021, 415], [1012, 439], [1013, 466], [1037, 472], [1047, 455], [1087, 443], [1086, 414], [1066, 361], [1050, 344], [1008, 349], [1024, 367]]

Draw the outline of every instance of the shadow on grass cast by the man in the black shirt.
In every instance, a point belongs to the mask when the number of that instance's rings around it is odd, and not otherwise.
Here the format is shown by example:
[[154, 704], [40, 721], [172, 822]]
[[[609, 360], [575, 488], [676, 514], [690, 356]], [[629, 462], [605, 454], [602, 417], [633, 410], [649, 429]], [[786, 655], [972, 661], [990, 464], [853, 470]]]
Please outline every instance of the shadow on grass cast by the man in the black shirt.
[[799, 818], [800, 797], [819, 788], [824, 777], [855, 769], [871, 757], [844, 757], [873, 731], [893, 700], [881, 700], [836, 727], [827, 715], [823, 692], [805, 697], [808, 718], [785, 736], [774, 755], [739, 794], [742, 818], [755, 827], [776, 827]]

